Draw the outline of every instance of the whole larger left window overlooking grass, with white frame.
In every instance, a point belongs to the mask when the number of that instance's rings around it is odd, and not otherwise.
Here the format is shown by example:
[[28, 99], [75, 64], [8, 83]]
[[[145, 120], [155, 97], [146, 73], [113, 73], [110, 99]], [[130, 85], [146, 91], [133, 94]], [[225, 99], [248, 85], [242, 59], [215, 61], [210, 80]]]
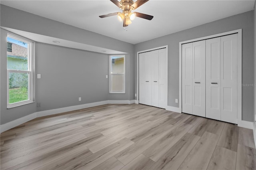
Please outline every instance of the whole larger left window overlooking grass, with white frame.
[[33, 102], [33, 42], [7, 36], [7, 108]]

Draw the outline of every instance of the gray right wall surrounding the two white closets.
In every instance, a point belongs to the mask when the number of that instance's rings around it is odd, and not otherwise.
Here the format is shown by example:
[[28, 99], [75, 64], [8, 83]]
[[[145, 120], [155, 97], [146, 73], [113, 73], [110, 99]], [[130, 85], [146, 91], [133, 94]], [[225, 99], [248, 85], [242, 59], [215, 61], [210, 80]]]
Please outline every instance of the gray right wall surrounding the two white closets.
[[[168, 105], [179, 107], [179, 42], [242, 28], [242, 83], [254, 83], [254, 12], [249, 11], [188, 30], [138, 43], [137, 51], [168, 45]], [[137, 57], [137, 55], [136, 55]], [[137, 65], [137, 59], [135, 65]], [[135, 67], [137, 69], [137, 66]], [[137, 72], [137, 70], [135, 70]], [[137, 75], [135, 75], [137, 77]], [[137, 85], [137, 78], [135, 79]], [[135, 87], [137, 91], [137, 86]], [[179, 99], [180, 102], [180, 99]], [[242, 87], [242, 120], [253, 121], [254, 87]]]

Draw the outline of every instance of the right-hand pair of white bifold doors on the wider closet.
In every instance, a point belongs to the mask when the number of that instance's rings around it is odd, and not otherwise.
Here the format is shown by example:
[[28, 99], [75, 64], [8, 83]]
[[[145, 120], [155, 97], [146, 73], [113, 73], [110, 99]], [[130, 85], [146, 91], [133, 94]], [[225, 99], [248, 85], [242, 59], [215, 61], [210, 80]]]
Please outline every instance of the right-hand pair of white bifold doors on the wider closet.
[[237, 124], [238, 34], [206, 40], [206, 117]]

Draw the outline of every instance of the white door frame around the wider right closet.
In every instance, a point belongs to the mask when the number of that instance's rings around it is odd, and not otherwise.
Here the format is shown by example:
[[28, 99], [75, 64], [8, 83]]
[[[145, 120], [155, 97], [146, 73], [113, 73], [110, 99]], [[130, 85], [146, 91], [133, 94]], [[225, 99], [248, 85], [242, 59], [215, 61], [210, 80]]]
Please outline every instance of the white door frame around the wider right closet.
[[212, 36], [206, 36], [206, 37], [202, 37], [202, 38], [196, 38], [193, 40], [187, 40], [184, 42], [180, 42], [179, 44], [179, 50], [180, 50], [180, 60], [179, 60], [179, 98], [180, 98], [180, 103], [179, 103], [179, 111], [180, 113], [182, 112], [182, 96], [181, 96], [181, 58], [182, 58], [182, 47], [181, 45], [184, 43], [190, 43], [190, 42], [196, 42], [196, 41], [200, 41], [200, 40], [206, 40], [206, 39], [210, 39], [210, 38], [216, 38], [216, 37], [221, 37], [221, 36], [227, 36], [229, 34], [236, 34], [238, 33], [238, 124], [241, 123], [242, 121], [242, 29], [239, 30], [234, 30], [234, 31], [229, 31], [229, 32], [224, 32], [224, 33], [220, 33], [220, 34], [215, 34]]

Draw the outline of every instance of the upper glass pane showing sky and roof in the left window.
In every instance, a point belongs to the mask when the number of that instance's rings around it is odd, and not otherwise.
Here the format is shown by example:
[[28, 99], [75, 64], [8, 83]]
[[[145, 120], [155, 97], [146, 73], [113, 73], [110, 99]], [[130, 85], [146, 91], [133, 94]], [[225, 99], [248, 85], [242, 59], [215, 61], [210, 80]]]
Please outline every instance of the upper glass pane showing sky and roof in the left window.
[[28, 70], [28, 43], [7, 37], [7, 69]]

